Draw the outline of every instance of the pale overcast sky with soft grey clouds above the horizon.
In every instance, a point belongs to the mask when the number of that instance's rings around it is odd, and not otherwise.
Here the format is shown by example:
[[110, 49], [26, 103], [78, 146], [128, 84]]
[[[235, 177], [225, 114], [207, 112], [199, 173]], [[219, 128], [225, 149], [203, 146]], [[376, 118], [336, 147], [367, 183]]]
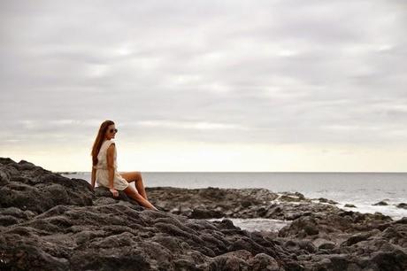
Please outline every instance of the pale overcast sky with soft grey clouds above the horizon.
[[407, 2], [1, 1], [0, 157], [90, 171], [406, 172]]

